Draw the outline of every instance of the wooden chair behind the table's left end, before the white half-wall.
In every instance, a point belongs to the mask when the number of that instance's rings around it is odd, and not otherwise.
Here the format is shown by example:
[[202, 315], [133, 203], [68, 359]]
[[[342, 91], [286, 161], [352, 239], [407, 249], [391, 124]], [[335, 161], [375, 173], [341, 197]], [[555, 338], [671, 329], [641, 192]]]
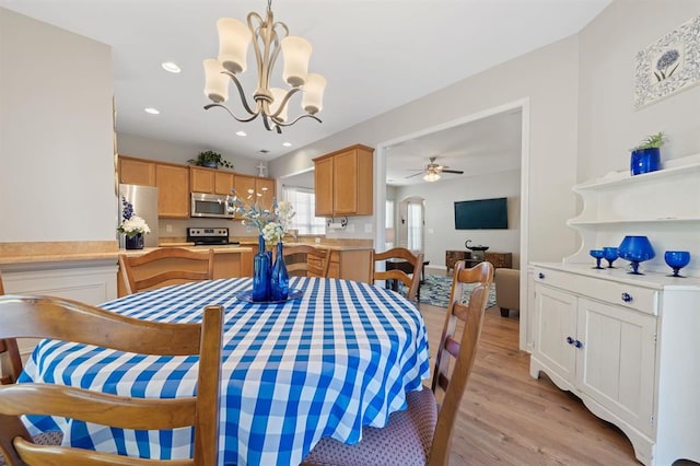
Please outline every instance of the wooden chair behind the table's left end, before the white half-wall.
[[119, 270], [127, 294], [214, 276], [214, 251], [197, 253], [182, 247], [161, 247], [141, 256], [119, 255]]

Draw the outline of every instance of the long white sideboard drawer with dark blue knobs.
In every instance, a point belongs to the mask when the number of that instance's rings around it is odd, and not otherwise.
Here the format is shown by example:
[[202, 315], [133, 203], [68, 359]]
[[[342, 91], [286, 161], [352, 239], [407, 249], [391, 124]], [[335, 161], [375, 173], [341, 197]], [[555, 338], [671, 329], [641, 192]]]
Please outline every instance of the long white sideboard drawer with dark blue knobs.
[[593, 300], [630, 307], [646, 314], [657, 314], [658, 292], [649, 288], [541, 267], [535, 267], [535, 281]]

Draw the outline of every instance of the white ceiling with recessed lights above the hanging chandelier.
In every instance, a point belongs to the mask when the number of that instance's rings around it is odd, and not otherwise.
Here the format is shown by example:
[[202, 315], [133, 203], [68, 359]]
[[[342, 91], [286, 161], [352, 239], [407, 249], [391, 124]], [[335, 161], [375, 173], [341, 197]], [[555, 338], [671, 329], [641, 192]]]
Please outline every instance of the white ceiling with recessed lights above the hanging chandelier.
[[[202, 108], [209, 101], [202, 92], [201, 63], [218, 51], [217, 20], [243, 20], [249, 11], [264, 14], [264, 0], [0, 0], [0, 7], [113, 47], [118, 132], [260, 160], [278, 158], [575, 34], [609, 3], [276, 0], [276, 21], [287, 23], [290, 34], [312, 43], [310, 70], [328, 80], [324, 109], [318, 115], [324, 123], [304, 119], [277, 135], [266, 131], [260, 120], [240, 124], [220, 108]], [[250, 78], [255, 68], [252, 53], [248, 59], [244, 77]], [[165, 72], [163, 61], [177, 62], [183, 72]], [[244, 80], [246, 90], [253, 88], [248, 81]], [[237, 98], [233, 93], [231, 96]], [[299, 102], [296, 97], [291, 103], [291, 118], [298, 115], [294, 108]], [[145, 107], [159, 108], [161, 114], [149, 115], [143, 112]], [[241, 129], [248, 136], [235, 136]], [[486, 133], [475, 130], [469, 132], [469, 141], [455, 140], [441, 148], [417, 142], [411, 148], [418, 158], [416, 167], [428, 163], [430, 155], [447, 156], [459, 147], [485, 156], [486, 152], [478, 149], [482, 145], [478, 138]], [[292, 145], [284, 148], [282, 142]], [[466, 150], [467, 144], [476, 147]], [[262, 154], [261, 150], [269, 152]], [[465, 161], [464, 166], [454, 165], [466, 171], [474, 164]], [[401, 173], [392, 170], [390, 175], [400, 178]]]

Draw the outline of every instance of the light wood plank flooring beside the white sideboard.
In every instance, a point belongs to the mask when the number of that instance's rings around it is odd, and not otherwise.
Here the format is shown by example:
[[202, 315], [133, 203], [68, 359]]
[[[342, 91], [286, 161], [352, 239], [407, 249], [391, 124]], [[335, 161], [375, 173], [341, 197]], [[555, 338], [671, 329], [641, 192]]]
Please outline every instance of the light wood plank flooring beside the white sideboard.
[[[445, 308], [420, 304], [434, 358]], [[615, 426], [546, 376], [529, 376], [529, 354], [518, 350], [518, 319], [487, 310], [476, 364], [459, 407], [450, 464], [638, 465]], [[515, 315], [515, 316], [513, 316]]]

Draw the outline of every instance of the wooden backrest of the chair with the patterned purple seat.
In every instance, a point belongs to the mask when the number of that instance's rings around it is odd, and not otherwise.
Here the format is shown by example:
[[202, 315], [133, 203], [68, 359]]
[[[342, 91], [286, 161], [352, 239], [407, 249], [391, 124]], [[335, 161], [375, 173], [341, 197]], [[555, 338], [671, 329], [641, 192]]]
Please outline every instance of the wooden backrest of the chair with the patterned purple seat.
[[[445, 394], [438, 415], [438, 424], [430, 451], [429, 465], [431, 466], [444, 466], [450, 461], [452, 430], [474, 366], [492, 281], [493, 266], [490, 263], [483, 261], [470, 269], [465, 268], [464, 260], [455, 264], [450, 304], [443, 335], [438, 347], [432, 382], [433, 392], [440, 387], [445, 391]], [[462, 303], [465, 283], [475, 283], [466, 305]], [[460, 338], [456, 336], [457, 321], [464, 324]], [[455, 359], [452, 373], [450, 373], [451, 356]]]

